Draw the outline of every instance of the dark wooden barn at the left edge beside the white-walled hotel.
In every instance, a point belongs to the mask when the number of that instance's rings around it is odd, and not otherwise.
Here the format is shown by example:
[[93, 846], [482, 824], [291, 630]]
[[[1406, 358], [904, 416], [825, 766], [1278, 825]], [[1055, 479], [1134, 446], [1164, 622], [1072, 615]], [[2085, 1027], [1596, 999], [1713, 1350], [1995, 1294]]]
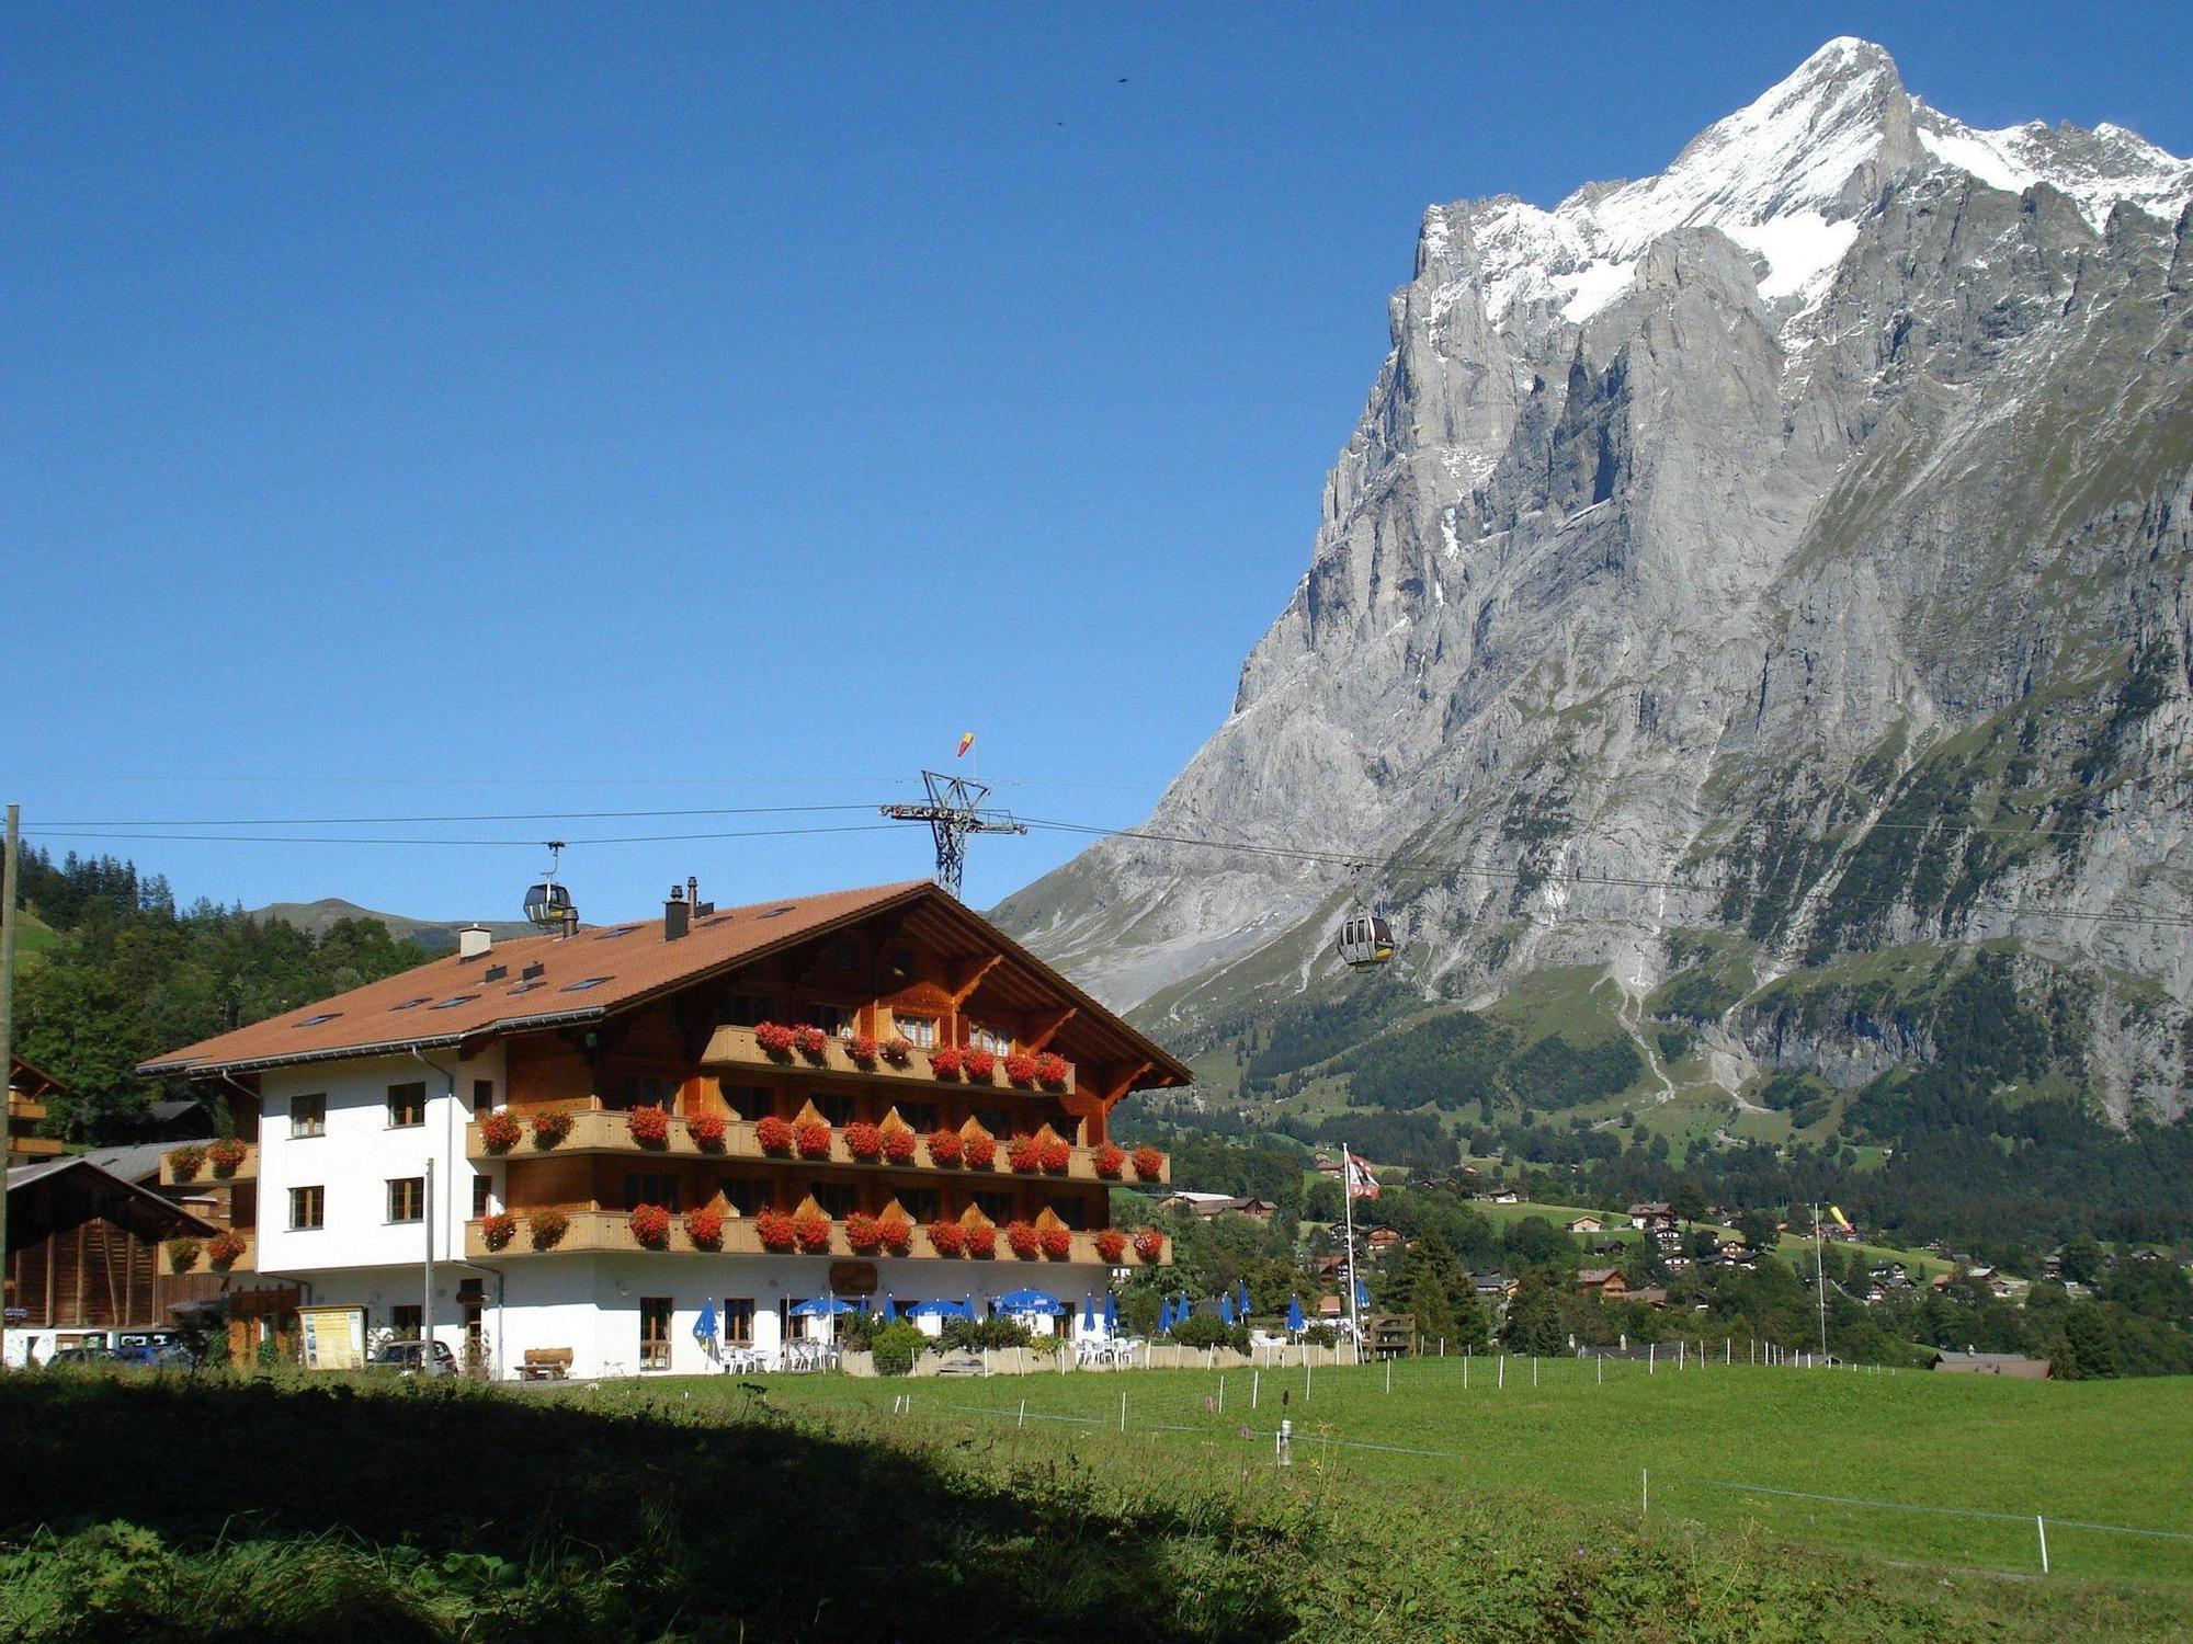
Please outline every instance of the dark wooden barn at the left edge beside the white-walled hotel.
[[167, 1274], [160, 1245], [211, 1238], [206, 1221], [83, 1157], [7, 1173], [7, 1335], [39, 1359], [77, 1333], [167, 1331], [178, 1302], [221, 1293], [219, 1274]]

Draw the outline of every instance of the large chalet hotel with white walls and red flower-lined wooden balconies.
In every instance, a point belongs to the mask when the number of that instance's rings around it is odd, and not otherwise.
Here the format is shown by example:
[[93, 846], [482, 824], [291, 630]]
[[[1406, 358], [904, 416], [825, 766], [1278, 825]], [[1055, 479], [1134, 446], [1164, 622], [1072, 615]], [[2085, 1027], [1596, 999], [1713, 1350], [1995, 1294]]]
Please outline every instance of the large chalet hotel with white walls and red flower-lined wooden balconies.
[[498, 1377], [706, 1370], [704, 1309], [774, 1355], [822, 1295], [1037, 1287], [1079, 1315], [1171, 1258], [1110, 1225], [1110, 1184], [1169, 1168], [1107, 1116], [1189, 1083], [930, 883], [465, 932], [140, 1072], [228, 1098], [232, 1271], [298, 1289], [309, 1361], [417, 1333], [432, 1295], [432, 1335]]

